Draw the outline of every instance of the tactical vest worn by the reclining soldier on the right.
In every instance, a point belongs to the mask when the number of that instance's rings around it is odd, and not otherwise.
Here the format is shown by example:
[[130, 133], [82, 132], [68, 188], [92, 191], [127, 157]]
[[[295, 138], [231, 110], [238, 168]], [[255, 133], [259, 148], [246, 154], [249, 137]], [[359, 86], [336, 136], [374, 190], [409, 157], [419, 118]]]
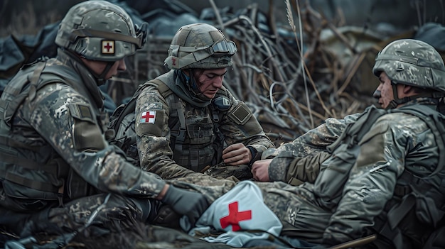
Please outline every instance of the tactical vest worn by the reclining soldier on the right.
[[[368, 117], [358, 118], [355, 123], [350, 123], [341, 137], [335, 143], [328, 146], [328, 151], [333, 152], [340, 146], [344, 146], [341, 150], [350, 150], [351, 152], [357, 148], [358, 141], [368, 133], [370, 127], [375, 123], [377, 118], [387, 113], [403, 112], [419, 117], [427, 123], [427, 126], [434, 133], [436, 144], [439, 150], [439, 164], [434, 172], [426, 177], [414, 175], [409, 170], [404, 170], [395, 187], [393, 198], [387, 202], [385, 210], [382, 214], [375, 218], [374, 233], [379, 235], [381, 240], [385, 240], [387, 245], [395, 246], [395, 248], [407, 248], [405, 238], [409, 238], [409, 243], [417, 243], [413, 248], [419, 248], [427, 239], [434, 226], [444, 219], [445, 213], [445, 126], [444, 116], [438, 111], [431, 109], [429, 106], [402, 106], [398, 109], [385, 111], [376, 109], [372, 106], [363, 115]], [[350, 153], [353, 155], [353, 153]], [[428, 197], [434, 200], [431, 206], [422, 206], [416, 204], [417, 198]], [[435, 210], [434, 210], [435, 208]], [[433, 221], [419, 221], [426, 213], [430, 213], [429, 209], [434, 211], [430, 214]], [[432, 223], [427, 227], [425, 223]], [[411, 246], [411, 245], [410, 245]]]

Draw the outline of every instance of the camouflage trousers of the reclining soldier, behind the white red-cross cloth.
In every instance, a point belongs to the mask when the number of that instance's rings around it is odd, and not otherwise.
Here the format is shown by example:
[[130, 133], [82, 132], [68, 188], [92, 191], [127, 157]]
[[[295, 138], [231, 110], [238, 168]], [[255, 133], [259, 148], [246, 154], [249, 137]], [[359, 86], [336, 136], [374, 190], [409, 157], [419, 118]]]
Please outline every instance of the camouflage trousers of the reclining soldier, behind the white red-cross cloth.
[[[216, 179], [207, 175], [193, 175], [171, 179], [169, 184], [200, 192], [212, 203], [235, 187], [239, 181]], [[315, 197], [305, 187], [284, 182], [255, 182], [262, 190], [264, 204], [284, 224], [282, 236], [299, 238], [311, 243], [321, 243], [332, 213], [318, 207]], [[305, 183], [304, 186], [311, 184]]]

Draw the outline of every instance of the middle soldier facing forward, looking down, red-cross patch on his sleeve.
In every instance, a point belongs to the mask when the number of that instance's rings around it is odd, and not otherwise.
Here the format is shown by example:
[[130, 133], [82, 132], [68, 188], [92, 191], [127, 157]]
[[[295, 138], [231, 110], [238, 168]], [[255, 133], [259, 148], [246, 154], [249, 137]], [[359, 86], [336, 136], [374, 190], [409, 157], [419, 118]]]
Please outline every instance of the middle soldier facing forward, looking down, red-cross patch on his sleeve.
[[[274, 144], [247, 105], [223, 86], [235, 52], [235, 43], [207, 23], [176, 32], [164, 61], [171, 70], [144, 84], [136, 101], [144, 170], [171, 179], [225, 165], [242, 172], [238, 178], [252, 176], [249, 165]], [[214, 175], [211, 170], [206, 174]]]

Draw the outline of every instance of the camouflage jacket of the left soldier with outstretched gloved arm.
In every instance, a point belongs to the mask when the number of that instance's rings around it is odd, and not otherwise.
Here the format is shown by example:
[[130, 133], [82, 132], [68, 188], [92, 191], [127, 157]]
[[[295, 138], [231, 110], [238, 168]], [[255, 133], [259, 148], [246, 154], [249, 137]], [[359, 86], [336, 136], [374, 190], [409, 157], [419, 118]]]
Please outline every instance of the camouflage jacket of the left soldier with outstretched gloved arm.
[[44, 67], [36, 84], [31, 83], [29, 96], [15, 111], [6, 109], [6, 114], [12, 111], [9, 125], [3, 116], [0, 119], [0, 135], [10, 141], [1, 144], [2, 151], [19, 157], [2, 155], [0, 205], [37, 211], [61, 199], [85, 196], [91, 189], [156, 197], [165, 182], [141, 172], [104, 139], [107, 115], [102, 94], [90, 71], [73, 55], [59, 50], [56, 58], [21, 70], [1, 101], [10, 101], [21, 81], [35, 78], [39, 65]]

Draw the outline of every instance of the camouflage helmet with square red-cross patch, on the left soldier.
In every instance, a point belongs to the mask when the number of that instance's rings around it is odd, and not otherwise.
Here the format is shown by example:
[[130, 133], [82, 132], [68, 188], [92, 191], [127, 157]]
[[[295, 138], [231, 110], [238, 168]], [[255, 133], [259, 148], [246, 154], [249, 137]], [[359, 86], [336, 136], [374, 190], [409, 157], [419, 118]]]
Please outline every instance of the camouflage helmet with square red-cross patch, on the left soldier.
[[73, 6], [60, 23], [55, 44], [87, 60], [114, 62], [133, 55], [146, 41], [146, 23], [135, 27], [121, 7], [108, 1]]

